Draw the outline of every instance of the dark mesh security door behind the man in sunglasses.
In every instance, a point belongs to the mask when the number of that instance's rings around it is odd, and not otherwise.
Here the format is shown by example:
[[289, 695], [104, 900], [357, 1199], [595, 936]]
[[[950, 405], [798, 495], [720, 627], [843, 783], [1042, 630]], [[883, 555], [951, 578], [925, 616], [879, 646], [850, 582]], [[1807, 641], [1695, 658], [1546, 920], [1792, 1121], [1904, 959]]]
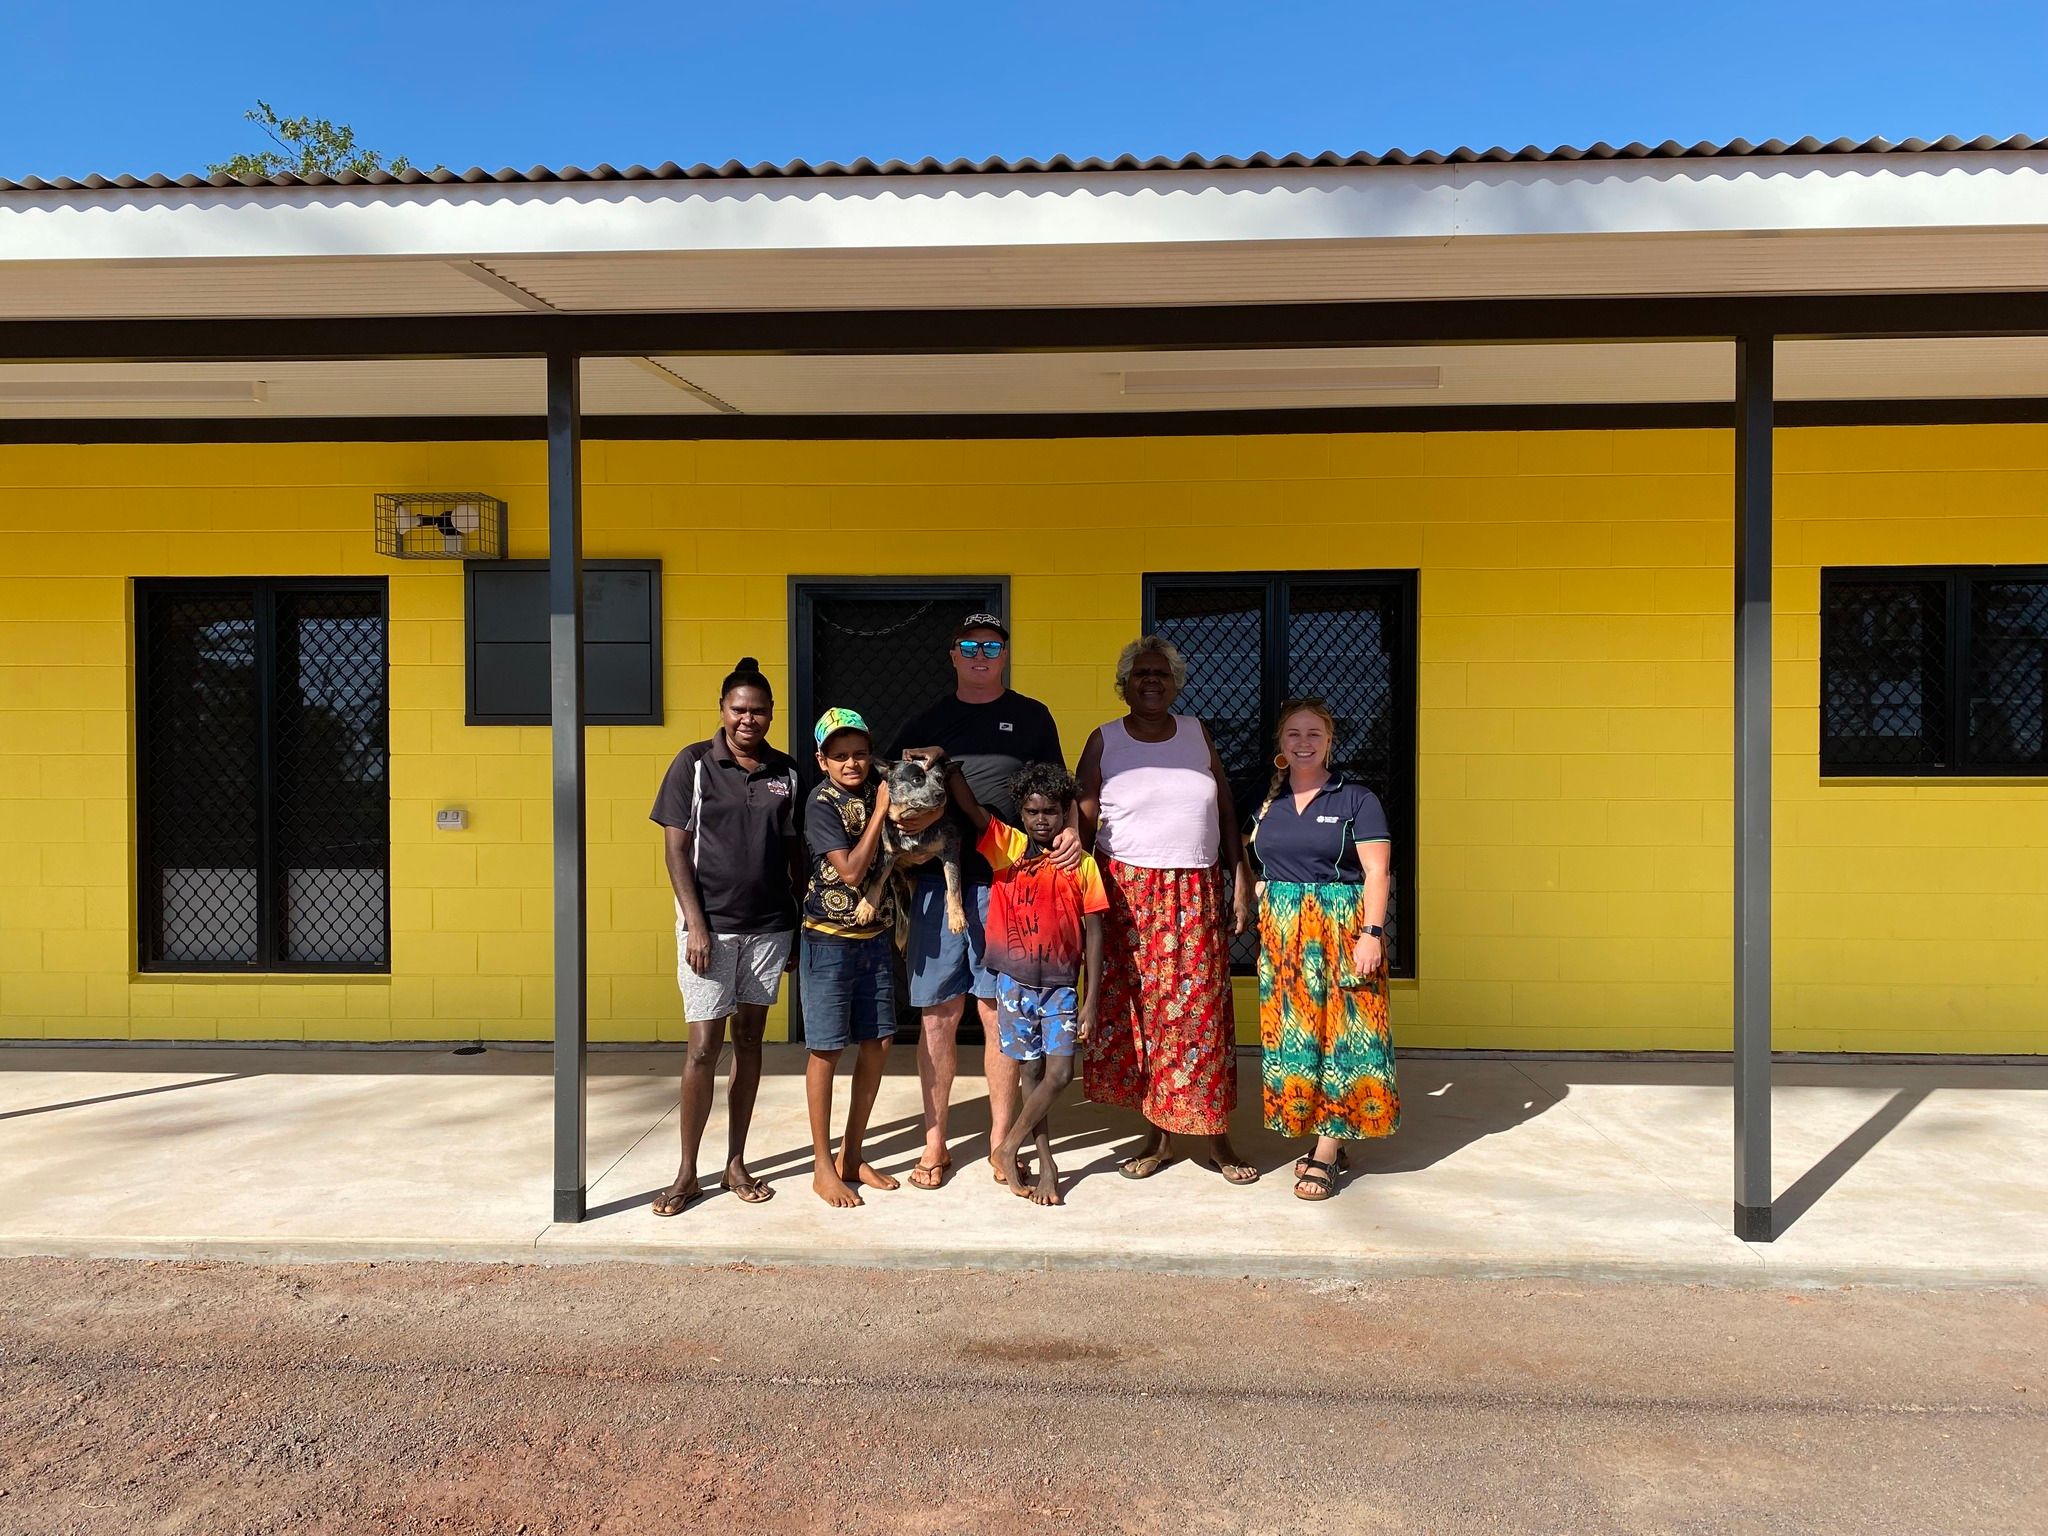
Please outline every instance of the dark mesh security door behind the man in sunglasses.
[[[946, 645], [971, 612], [1008, 614], [1010, 582], [999, 575], [791, 578], [791, 756], [809, 795], [819, 780], [811, 723], [831, 707], [854, 709], [887, 752], [913, 715], [952, 692]], [[918, 1016], [897, 971], [897, 1032], [915, 1040]], [[795, 983], [795, 977], [791, 977]], [[791, 987], [791, 1030], [803, 1028], [803, 997]], [[981, 1038], [979, 1012], [961, 1016], [961, 1038]]]

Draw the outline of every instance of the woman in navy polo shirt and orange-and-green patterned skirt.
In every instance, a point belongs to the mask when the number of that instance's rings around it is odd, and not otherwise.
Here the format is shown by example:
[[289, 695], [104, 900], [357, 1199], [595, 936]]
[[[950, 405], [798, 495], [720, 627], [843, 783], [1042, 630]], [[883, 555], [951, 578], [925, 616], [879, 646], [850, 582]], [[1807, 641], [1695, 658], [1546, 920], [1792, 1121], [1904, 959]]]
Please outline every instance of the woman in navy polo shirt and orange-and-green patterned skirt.
[[1294, 1194], [1327, 1200], [1343, 1143], [1401, 1124], [1386, 1024], [1386, 813], [1333, 772], [1337, 723], [1321, 698], [1280, 707], [1274, 782], [1251, 825], [1260, 883], [1260, 1040], [1266, 1124], [1315, 1137]]

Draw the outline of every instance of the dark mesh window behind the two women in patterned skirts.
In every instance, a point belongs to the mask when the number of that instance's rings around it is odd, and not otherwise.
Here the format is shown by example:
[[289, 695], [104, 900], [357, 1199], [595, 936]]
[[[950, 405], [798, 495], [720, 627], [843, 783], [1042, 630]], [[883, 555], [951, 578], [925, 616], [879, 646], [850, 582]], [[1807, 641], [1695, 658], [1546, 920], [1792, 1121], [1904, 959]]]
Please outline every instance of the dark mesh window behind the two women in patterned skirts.
[[[1272, 782], [1274, 717], [1317, 694], [1337, 717], [1337, 766], [1386, 807], [1386, 956], [1415, 975], [1415, 573], [1266, 571], [1145, 578], [1145, 631], [1188, 662], [1180, 713], [1208, 725], [1249, 827]], [[1237, 942], [1249, 971], [1257, 938]]]

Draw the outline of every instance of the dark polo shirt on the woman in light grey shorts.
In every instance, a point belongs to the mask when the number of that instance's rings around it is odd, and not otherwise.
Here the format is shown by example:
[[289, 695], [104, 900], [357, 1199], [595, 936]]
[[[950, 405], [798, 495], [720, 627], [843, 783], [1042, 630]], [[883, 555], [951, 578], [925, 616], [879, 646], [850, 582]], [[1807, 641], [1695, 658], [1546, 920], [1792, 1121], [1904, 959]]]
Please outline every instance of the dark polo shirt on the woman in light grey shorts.
[[690, 834], [696, 895], [713, 934], [782, 934], [797, 926], [788, 842], [797, 836], [797, 764], [762, 743], [748, 772], [725, 731], [676, 754], [651, 821]]

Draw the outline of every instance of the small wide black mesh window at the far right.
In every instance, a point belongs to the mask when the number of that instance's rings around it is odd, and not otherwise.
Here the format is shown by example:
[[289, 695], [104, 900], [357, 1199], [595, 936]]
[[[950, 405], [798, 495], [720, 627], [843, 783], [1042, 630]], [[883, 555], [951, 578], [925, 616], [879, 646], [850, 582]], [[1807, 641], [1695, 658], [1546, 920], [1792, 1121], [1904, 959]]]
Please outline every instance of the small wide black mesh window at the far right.
[[2048, 569], [1823, 571], [1821, 772], [2048, 772]]

